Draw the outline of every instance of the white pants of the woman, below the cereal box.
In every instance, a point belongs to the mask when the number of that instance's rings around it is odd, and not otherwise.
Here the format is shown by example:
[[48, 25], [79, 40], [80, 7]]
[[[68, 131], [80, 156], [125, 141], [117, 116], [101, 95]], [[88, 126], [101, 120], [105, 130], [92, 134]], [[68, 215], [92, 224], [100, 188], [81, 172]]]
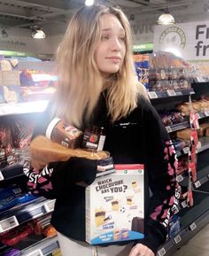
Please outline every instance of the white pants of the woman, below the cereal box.
[[133, 244], [93, 246], [70, 239], [59, 232], [58, 243], [62, 256], [128, 256]]

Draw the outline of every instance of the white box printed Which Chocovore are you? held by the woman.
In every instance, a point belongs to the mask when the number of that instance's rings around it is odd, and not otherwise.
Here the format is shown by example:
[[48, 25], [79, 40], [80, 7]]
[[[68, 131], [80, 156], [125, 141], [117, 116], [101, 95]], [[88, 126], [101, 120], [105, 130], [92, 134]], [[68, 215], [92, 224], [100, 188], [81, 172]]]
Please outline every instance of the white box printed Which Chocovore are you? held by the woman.
[[86, 189], [86, 241], [104, 244], [143, 238], [143, 165], [115, 165]]

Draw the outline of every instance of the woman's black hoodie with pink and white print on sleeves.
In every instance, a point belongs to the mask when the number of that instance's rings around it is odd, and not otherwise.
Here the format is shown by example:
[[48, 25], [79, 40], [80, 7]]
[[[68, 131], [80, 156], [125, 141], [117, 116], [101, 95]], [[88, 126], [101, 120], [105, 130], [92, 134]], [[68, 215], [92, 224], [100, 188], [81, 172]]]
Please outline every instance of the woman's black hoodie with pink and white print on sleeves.
[[[35, 136], [44, 135], [49, 122], [50, 107], [43, 113]], [[112, 122], [102, 95], [90, 125], [104, 127], [104, 150], [111, 153], [115, 164], [144, 164], [145, 238], [138, 242], [156, 253], [159, 245], [166, 241], [168, 220], [179, 195], [174, 146], [158, 112], [141, 97], [134, 111]], [[52, 225], [66, 237], [85, 241], [85, 188], [76, 182], [94, 182], [97, 160], [71, 158], [50, 163], [48, 168], [53, 168], [50, 177], [53, 190], [49, 194], [44, 191], [43, 196], [57, 199]], [[43, 191], [41, 185], [40, 191]]]

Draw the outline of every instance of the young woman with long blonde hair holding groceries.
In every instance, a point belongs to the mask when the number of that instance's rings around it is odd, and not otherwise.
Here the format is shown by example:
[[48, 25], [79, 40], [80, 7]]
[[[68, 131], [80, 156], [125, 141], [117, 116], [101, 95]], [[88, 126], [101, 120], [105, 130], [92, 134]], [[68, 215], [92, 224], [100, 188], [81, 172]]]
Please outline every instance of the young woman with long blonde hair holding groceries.
[[145, 238], [134, 247], [133, 243], [106, 247], [85, 243], [85, 188], [76, 182], [94, 182], [97, 160], [71, 158], [48, 166], [53, 169], [51, 183], [57, 198], [51, 223], [58, 230], [62, 256], [153, 256], [166, 240], [176, 203], [176, 157], [159, 115], [143, 85], [136, 82], [131, 46], [128, 19], [119, 9], [94, 5], [76, 12], [58, 47], [55, 100], [35, 134], [44, 134], [55, 116], [76, 128], [103, 126], [104, 150], [110, 151], [114, 163], [143, 163]]

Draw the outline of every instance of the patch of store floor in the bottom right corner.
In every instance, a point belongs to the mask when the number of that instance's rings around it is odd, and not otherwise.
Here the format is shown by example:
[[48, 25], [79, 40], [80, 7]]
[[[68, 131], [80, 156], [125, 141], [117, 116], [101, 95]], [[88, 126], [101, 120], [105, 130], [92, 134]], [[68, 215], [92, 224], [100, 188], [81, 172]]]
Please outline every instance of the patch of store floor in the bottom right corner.
[[174, 256], [209, 256], [209, 224], [175, 252]]

